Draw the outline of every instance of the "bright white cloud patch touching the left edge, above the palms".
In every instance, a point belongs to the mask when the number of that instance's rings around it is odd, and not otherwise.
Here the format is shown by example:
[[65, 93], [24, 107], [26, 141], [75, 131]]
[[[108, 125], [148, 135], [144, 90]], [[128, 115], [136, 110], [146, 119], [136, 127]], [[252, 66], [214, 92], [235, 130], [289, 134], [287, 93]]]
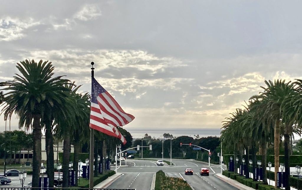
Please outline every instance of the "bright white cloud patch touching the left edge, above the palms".
[[33, 18], [20, 20], [18, 18], [4, 17], [0, 20], [0, 41], [18, 40], [24, 37], [24, 30], [39, 25]]

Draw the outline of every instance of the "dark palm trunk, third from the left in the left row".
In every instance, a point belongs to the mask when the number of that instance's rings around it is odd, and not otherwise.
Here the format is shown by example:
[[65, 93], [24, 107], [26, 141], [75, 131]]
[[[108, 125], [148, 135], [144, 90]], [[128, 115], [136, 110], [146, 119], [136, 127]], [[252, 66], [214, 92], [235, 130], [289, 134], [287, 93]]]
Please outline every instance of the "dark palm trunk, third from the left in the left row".
[[[68, 130], [67, 130], [68, 131]], [[66, 132], [63, 143], [63, 188], [68, 187], [69, 178], [69, 156], [70, 156], [70, 133]]]

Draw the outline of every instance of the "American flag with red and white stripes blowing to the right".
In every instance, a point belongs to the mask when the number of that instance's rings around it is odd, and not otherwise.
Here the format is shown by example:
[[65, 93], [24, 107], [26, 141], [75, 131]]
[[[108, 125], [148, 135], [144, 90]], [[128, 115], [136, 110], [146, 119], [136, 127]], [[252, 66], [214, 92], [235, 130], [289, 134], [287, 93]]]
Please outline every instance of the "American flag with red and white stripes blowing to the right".
[[134, 119], [125, 113], [114, 98], [95, 80], [92, 79], [92, 99], [89, 127], [107, 135], [119, 138], [123, 144], [126, 139], [117, 127], [124, 126]]

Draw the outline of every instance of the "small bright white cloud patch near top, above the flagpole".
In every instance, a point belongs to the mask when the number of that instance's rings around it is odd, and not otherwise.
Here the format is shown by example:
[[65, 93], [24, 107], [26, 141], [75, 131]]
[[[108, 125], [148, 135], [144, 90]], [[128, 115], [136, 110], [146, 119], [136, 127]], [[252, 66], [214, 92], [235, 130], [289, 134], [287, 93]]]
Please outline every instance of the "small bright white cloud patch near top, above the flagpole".
[[75, 14], [75, 18], [80, 21], [89, 21], [97, 19], [102, 15], [101, 10], [97, 5], [85, 5], [81, 11]]

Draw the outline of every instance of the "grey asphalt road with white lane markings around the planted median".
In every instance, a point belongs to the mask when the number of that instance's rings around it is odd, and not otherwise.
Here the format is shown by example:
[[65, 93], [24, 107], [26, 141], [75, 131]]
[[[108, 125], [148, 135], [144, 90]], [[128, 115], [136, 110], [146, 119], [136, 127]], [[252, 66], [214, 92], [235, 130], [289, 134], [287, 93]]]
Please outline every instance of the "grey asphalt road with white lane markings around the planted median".
[[[176, 159], [172, 159], [172, 163], [175, 163], [175, 166], [168, 166], [166, 163], [164, 166], [156, 166], [156, 160], [127, 159], [128, 167], [124, 166], [125, 162], [122, 162], [121, 167], [117, 167], [117, 172], [123, 173], [123, 175], [107, 188], [136, 188], [138, 190], [150, 189], [153, 174], [159, 170], [162, 170], [167, 176], [178, 177], [186, 180], [188, 184], [190, 184], [195, 190], [237, 189], [214, 176], [215, 173], [220, 173], [219, 165], [210, 164], [209, 167], [208, 163]], [[199, 171], [202, 167], [209, 169], [209, 176], [200, 176]], [[192, 168], [194, 174], [185, 175], [186, 168]], [[114, 170], [115, 166], [111, 166], [111, 169]]]

